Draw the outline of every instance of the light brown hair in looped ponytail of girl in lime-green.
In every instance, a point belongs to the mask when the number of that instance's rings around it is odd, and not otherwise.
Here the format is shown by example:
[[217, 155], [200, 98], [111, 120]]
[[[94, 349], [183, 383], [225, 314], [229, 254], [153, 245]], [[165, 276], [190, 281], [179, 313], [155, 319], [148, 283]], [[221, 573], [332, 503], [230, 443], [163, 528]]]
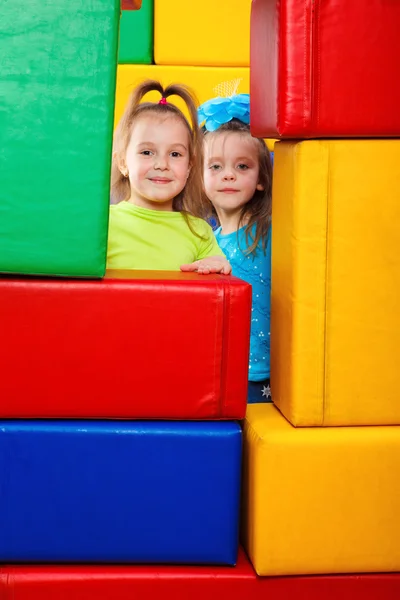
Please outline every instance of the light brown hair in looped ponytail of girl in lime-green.
[[[160, 92], [161, 98], [179, 96], [185, 102], [190, 114], [191, 123], [170, 102], [141, 102], [142, 98], [152, 91]], [[184, 85], [172, 84], [164, 88], [160, 82], [147, 80], [138, 85], [132, 92], [125, 112], [115, 130], [113, 144], [113, 161], [111, 169], [111, 201], [114, 203], [127, 200], [130, 196], [129, 179], [125, 177], [118, 167], [118, 157], [124, 157], [132, 134], [132, 127], [136, 119], [142, 115], [172, 116], [180, 119], [189, 132], [189, 161], [190, 173], [184, 189], [173, 199], [173, 210], [183, 213], [190, 229], [193, 231], [189, 215], [203, 218], [207, 211], [207, 199], [203, 188], [203, 144], [202, 136], [197, 125], [198, 102], [193, 93]], [[193, 233], [195, 233], [193, 231]]]

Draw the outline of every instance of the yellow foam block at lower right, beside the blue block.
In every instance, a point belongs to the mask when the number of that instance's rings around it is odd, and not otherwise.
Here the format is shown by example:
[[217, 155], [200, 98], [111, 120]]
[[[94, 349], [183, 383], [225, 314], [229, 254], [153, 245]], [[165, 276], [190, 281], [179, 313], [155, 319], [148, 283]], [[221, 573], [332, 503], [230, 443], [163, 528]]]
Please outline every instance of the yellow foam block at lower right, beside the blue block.
[[400, 427], [244, 424], [243, 544], [259, 575], [400, 570]]

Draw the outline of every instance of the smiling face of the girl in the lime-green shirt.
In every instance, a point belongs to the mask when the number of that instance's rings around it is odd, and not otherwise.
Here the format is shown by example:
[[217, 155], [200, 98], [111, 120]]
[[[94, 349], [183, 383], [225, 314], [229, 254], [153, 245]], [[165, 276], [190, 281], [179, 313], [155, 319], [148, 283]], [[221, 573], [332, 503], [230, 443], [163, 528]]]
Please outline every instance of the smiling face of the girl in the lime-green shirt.
[[190, 172], [189, 132], [179, 118], [145, 114], [133, 124], [119, 168], [129, 177], [129, 202], [153, 210], [172, 210]]

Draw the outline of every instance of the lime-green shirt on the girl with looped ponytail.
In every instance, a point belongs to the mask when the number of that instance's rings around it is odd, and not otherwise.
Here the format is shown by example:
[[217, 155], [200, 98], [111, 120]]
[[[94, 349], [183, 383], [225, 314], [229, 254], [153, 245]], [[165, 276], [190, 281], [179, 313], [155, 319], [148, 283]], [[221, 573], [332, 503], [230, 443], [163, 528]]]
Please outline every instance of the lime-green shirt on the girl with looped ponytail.
[[108, 269], [179, 271], [207, 256], [224, 256], [211, 227], [190, 217], [192, 233], [179, 212], [149, 210], [130, 202], [110, 207]]

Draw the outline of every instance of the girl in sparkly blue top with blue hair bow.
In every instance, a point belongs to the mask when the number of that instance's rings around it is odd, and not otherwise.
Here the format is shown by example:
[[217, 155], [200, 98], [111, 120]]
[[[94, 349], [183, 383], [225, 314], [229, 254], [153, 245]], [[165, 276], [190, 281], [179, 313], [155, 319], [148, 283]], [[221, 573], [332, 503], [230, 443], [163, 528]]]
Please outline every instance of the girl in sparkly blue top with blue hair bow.
[[253, 288], [248, 402], [270, 401], [270, 154], [250, 134], [247, 94], [205, 103], [199, 119], [205, 120], [204, 184], [219, 224], [215, 235], [232, 273]]

